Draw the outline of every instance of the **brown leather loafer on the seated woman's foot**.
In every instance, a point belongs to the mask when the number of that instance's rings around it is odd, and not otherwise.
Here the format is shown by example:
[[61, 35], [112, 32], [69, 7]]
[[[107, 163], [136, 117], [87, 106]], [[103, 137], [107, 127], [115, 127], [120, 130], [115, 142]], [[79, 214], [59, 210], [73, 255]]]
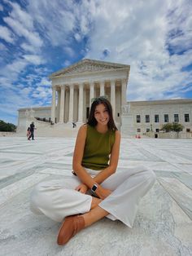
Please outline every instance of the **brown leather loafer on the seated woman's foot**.
[[57, 238], [58, 245], [65, 245], [68, 241], [75, 236], [77, 232], [85, 227], [85, 220], [80, 215], [68, 216], [65, 218], [59, 229]]

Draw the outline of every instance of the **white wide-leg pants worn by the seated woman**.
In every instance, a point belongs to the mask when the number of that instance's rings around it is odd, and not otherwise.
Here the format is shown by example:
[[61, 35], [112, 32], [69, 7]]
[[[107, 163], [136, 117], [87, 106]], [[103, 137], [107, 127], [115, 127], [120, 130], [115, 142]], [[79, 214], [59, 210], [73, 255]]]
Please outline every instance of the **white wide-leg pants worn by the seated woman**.
[[[92, 177], [98, 174], [95, 170], [87, 169], [87, 172]], [[92, 196], [75, 190], [80, 183], [80, 179], [71, 174], [63, 176], [63, 179], [37, 184], [31, 195], [31, 210], [35, 214], [45, 214], [58, 222], [62, 222], [63, 218], [69, 215], [88, 212]], [[109, 213], [107, 218], [119, 219], [125, 225], [132, 227], [138, 203], [154, 183], [154, 172], [143, 166], [116, 172], [101, 183], [103, 188], [108, 188], [112, 192], [99, 206], [107, 210]]]

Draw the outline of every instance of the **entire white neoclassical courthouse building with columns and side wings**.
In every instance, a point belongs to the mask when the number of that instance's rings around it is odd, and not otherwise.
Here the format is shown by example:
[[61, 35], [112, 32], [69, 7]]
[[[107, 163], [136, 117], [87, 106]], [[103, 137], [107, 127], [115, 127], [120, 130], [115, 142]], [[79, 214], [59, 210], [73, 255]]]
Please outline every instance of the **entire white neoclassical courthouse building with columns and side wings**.
[[[100, 60], [81, 60], [50, 75], [50, 107], [20, 108], [18, 132], [24, 133], [31, 121], [37, 135], [76, 135], [76, 128], [87, 121], [91, 99], [106, 95], [110, 100], [116, 126], [124, 136], [145, 135], [167, 122], [179, 122], [183, 134], [192, 131], [192, 99], [127, 102], [130, 66]], [[72, 128], [76, 123], [76, 128]], [[191, 137], [191, 136], [188, 136]]]

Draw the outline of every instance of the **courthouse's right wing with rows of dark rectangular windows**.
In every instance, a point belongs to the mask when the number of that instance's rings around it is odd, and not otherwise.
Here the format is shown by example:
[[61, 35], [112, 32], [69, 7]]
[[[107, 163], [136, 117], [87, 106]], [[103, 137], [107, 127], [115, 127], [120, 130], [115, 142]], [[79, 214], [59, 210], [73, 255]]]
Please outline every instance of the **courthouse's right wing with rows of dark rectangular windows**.
[[124, 135], [159, 133], [168, 122], [180, 123], [185, 133], [192, 131], [192, 99], [133, 101], [127, 106], [129, 111], [124, 111], [122, 117]]

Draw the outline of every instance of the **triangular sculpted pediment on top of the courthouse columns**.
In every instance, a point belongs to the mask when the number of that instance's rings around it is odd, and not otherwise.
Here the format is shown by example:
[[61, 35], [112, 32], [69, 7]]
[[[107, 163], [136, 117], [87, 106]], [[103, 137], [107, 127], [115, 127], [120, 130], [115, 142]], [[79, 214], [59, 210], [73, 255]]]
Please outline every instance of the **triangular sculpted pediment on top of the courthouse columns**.
[[63, 68], [55, 73], [52, 73], [50, 77], [63, 77], [64, 75], [68, 76], [78, 73], [91, 73], [119, 68], [129, 68], [129, 65], [85, 59], [77, 62], [76, 64], [68, 66], [68, 68]]

